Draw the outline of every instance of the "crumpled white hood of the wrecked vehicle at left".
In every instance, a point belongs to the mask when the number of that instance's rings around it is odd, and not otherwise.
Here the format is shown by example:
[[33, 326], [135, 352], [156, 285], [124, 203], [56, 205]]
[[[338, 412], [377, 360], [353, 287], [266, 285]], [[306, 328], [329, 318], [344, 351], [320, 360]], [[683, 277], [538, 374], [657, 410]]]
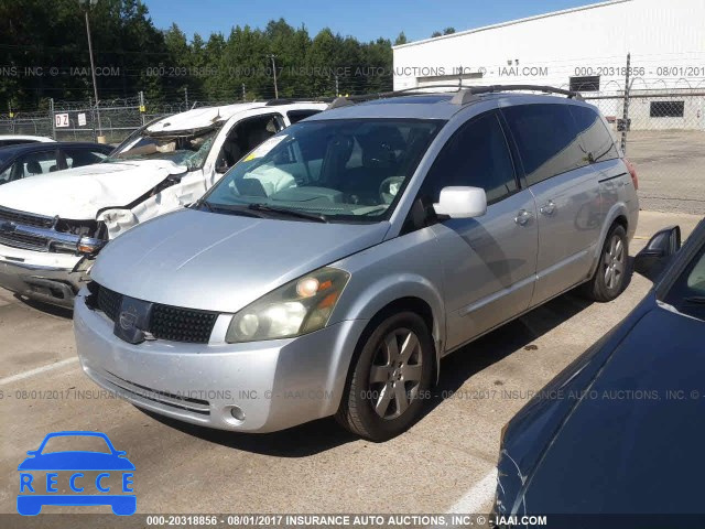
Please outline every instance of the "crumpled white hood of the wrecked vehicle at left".
[[97, 163], [0, 186], [0, 206], [75, 220], [93, 220], [100, 209], [123, 207], [170, 174], [186, 168], [167, 160]]

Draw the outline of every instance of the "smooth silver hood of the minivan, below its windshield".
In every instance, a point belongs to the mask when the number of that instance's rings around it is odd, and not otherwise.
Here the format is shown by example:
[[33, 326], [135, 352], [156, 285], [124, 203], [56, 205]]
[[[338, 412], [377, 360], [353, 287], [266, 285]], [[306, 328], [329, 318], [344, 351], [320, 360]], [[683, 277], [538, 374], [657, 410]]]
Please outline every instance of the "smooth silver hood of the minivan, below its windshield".
[[182, 209], [106, 246], [90, 276], [121, 294], [234, 313], [288, 281], [381, 242], [389, 223], [318, 224]]

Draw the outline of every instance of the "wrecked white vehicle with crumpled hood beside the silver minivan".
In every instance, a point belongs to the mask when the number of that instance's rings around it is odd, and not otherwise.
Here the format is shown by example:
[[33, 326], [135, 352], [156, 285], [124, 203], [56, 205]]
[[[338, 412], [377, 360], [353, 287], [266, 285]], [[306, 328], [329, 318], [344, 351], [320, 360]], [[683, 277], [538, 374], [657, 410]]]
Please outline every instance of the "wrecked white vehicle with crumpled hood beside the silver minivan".
[[195, 202], [242, 154], [325, 106], [197, 108], [148, 123], [100, 164], [0, 186], [0, 287], [73, 306], [108, 240]]

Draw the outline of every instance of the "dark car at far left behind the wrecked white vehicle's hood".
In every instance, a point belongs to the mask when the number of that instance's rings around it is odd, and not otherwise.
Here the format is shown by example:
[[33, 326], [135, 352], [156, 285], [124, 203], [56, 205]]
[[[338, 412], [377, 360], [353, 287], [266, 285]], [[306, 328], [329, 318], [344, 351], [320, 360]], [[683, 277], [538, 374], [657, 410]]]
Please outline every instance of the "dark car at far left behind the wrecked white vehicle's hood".
[[115, 148], [101, 143], [24, 143], [0, 149], [0, 185], [104, 161]]

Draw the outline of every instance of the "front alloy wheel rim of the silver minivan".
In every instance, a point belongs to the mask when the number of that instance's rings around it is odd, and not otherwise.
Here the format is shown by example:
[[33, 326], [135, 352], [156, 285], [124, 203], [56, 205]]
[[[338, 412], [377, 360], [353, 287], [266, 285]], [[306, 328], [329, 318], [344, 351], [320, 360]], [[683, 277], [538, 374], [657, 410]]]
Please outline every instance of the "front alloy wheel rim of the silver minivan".
[[395, 419], [409, 409], [421, 385], [423, 357], [419, 337], [408, 328], [397, 328], [380, 344], [370, 368], [369, 387], [375, 411]]

